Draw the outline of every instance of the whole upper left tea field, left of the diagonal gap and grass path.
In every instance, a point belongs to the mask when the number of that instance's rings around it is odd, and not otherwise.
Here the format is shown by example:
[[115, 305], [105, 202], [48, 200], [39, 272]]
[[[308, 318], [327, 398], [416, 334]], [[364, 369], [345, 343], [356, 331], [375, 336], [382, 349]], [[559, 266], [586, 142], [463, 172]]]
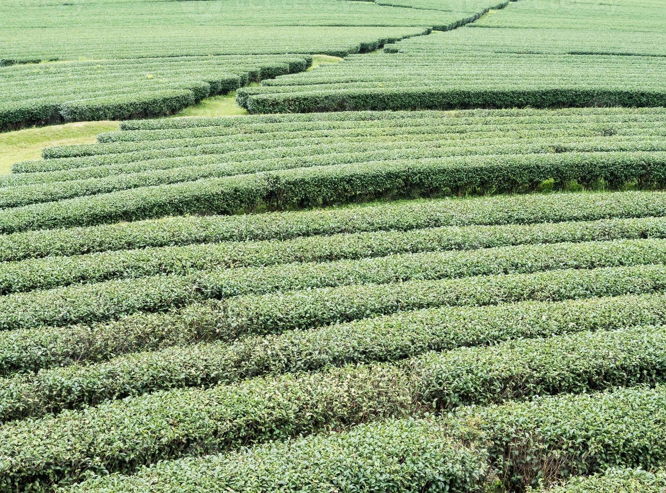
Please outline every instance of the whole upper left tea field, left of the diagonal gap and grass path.
[[492, 1], [428, 9], [339, 0], [252, 0], [242, 8], [224, 0], [7, 0], [0, 6], [0, 131], [169, 115], [251, 81], [304, 71], [308, 54], [365, 53], [453, 29]]

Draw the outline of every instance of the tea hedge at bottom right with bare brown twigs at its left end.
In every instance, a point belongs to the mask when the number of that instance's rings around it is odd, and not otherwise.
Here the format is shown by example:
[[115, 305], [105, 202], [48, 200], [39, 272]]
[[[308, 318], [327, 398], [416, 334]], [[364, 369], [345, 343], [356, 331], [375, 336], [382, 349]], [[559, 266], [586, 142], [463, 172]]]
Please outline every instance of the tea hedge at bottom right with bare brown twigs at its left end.
[[[492, 468], [515, 491], [609, 467], [663, 464], [664, 404], [663, 385], [639, 386], [462, 409], [456, 417], [484, 430]], [[474, 435], [472, 428], [468, 438]]]

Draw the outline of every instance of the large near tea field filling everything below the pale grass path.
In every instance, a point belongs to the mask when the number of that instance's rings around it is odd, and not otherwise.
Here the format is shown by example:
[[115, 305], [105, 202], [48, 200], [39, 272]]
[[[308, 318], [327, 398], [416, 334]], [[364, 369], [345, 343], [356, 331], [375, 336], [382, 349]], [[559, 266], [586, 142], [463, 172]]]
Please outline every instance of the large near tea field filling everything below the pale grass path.
[[[659, 386], [502, 402], [663, 380], [666, 195], [635, 189], [663, 183], [665, 118], [614, 108], [127, 122], [17, 163], [0, 212], [3, 489], [263, 491], [287, 476], [299, 490], [347, 463], [361, 468], [354, 488], [380, 467], [410, 488], [436, 476], [456, 491], [522, 489], [572, 468], [651, 466], [638, 444], [591, 453], [596, 435], [577, 437], [598, 422], [584, 409], [599, 399], [612, 416], [651, 414]], [[580, 187], [597, 191], [284, 211]], [[547, 438], [535, 409], [563, 413], [575, 448]], [[539, 438], [507, 444], [521, 413]], [[500, 446], [526, 455], [503, 459]], [[366, 449], [364, 466], [355, 454]], [[557, 469], [543, 470], [558, 450]]]

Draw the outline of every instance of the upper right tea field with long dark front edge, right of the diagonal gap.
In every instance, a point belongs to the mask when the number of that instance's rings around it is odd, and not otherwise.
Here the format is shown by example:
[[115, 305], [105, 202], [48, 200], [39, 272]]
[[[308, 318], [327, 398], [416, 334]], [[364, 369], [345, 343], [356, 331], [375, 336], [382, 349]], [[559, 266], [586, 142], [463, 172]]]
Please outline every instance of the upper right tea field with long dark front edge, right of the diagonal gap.
[[452, 33], [242, 89], [238, 103], [250, 113], [666, 105], [661, 4], [502, 5]]

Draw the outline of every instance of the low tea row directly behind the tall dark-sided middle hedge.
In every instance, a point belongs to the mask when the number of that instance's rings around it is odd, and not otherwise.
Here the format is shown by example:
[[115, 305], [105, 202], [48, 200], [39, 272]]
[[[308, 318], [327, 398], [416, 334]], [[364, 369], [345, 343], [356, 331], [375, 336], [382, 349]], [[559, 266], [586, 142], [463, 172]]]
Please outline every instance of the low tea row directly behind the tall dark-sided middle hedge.
[[[527, 139], [527, 137], [523, 137]], [[430, 143], [396, 142], [382, 146], [378, 143], [338, 143], [334, 146], [292, 147], [265, 149], [248, 153], [223, 155], [198, 155], [191, 158], [165, 158], [139, 161], [130, 165], [113, 165], [63, 173], [26, 173], [15, 177], [10, 187], [0, 187], [0, 207], [20, 207], [33, 203], [59, 201], [86, 195], [97, 195], [167, 183], [182, 183], [198, 179], [228, 177], [265, 171], [304, 169], [345, 164], [386, 161], [408, 163], [420, 159], [440, 158], [442, 164], [452, 167], [474, 162], [483, 165], [493, 159], [506, 159], [506, 155], [551, 155], [553, 153], [651, 153], [666, 150], [663, 137], [640, 139], [615, 137], [593, 139], [539, 139], [527, 144], [502, 143], [487, 145], [488, 141], [466, 141], [460, 147], [442, 146], [438, 141]], [[360, 149], [360, 150], [359, 150]], [[328, 152], [332, 151], [332, 152]], [[204, 151], [205, 152], [205, 151]], [[302, 153], [302, 155], [300, 155]], [[284, 155], [284, 157], [279, 157]], [[292, 155], [295, 155], [292, 157]], [[276, 157], [278, 156], [278, 157]], [[499, 157], [498, 157], [499, 156]], [[516, 159], [515, 157], [513, 158]], [[524, 158], [523, 158], [524, 159]], [[547, 159], [547, 158], [546, 158]], [[91, 176], [92, 175], [92, 176]]]

